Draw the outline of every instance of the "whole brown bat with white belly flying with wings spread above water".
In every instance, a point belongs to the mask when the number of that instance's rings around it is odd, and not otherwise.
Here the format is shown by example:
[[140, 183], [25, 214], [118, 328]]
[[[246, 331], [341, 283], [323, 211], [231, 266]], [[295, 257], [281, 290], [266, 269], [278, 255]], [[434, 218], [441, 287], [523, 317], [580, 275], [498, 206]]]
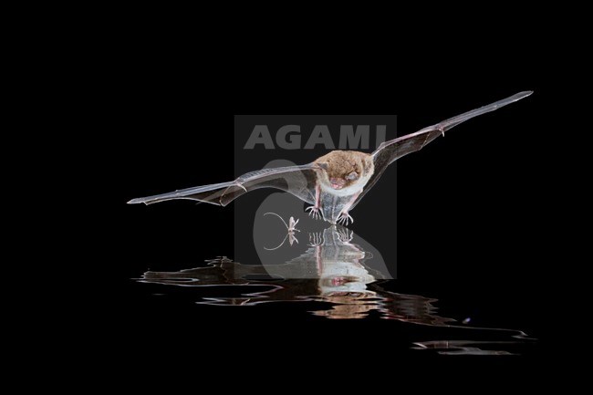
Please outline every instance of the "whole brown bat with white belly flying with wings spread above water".
[[426, 144], [441, 135], [444, 136], [445, 131], [465, 120], [500, 109], [532, 93], [532, 91], [519, 92], [480, 109], [473, 109], [428, 128], [385, 141], [370, 154], [359, 151], [331, 151], [308, 164], [248, 172], [233, 182], [162, 193], [132, 199], [128, 203], [151, 204], [175, 199], [190, 199], [226, 206], [246, 192], [259, 188], [276, 188], [292, 193], [302, 201], [311, 204], [306, 209], [309, 215], [317, 219], [323, 218], [332, 224], [341, 223], [348, 226], [349, 223], [354, 222], [349, 214], [350, 211], [379, 181], [380, 176], [393, 161], [411, 152], [420, 151]]

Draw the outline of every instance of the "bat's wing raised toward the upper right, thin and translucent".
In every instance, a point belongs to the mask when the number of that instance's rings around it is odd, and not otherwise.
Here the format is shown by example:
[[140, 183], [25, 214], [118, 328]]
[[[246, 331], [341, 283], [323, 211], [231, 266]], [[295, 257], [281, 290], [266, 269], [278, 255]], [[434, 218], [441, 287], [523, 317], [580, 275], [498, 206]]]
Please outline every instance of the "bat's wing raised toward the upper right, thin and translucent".
[[487, 106], [481, 107], [479, 109], [473, 109], [456, 117], [450, 118], [449, 120], [443, 120], [442, 122], [429, 126], [428, 128], [418, 130], [414, 133], [401, 136], [394, 140], [383, 142], [377, 151], [372, 153], [373, 161], [375, 163], [375, 172], [373, 173], [369, 182], [367, 182], [364, 191], [360, 193], [359, 198], [352, 205], [352, 208], [354, 208], [354, 206], [360, 202], [360, 199], [362, 199], [365, 193], [369, 192], [369, 189], [375, 185], [375, 182], [379, 180], [380, 176], [383, 174], [383, 172], [385, 172], [385, 169], [387, 169], [387, 166], [389, 166], [392, 162], [397, 161], [401, 157], [411, 152], [420, 151], [426, 144], [437, 137], [444, 135], [445, 131], [450, 130], [451, 128], [466, 120], [471, 120], [473, 117], [477, 117], [478, 115], [505, 107], [507, 104], [524, 99], [532, 93], [533, 91], [531, 90], [519, 92], [509, 98], [495, 101], [494, 103], [488, 104]]

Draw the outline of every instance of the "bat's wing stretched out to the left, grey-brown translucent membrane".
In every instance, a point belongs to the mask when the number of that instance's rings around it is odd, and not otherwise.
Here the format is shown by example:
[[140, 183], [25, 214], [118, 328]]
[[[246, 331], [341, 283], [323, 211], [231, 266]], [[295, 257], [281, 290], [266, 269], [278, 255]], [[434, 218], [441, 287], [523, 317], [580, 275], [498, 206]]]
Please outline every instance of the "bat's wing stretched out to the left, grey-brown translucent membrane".
[[319, 166], [309, 163], [302, 166], [278, 167], [248, 172], [234, 180], [212, 185], [203, 185], [175, 192], [162, 193], [138, 199], [129, 204], [160, 203], [175, 199], [189, 199], [225, 206], [242, 194], [259, 188], [276, 188], [290, 192], [304, 202], [315, 204], [316, 170]]

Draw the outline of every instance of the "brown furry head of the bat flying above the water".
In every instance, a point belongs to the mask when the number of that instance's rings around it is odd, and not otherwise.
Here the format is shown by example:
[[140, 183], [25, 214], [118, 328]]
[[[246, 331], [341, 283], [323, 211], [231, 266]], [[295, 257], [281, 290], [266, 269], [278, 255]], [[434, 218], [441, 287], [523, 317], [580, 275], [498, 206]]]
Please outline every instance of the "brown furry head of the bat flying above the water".
[[366, 183], [373, 171], [372, 157], [357, 151], [331, 151], [315, 162], [324, 171], [322, 182], [335, 190]]

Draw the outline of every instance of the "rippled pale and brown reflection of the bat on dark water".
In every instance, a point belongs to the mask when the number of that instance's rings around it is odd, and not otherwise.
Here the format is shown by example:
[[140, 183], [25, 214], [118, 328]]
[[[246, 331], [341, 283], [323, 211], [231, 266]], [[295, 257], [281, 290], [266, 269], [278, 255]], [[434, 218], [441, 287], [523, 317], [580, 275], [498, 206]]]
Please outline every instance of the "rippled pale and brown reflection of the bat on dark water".
[[[244, 265], [227, 257], [208, 261], [208, 265], [178, 272], [146, 272], [140, 282], [167, 286], [190, 286], [211, 292], [198, 304], [213, 306], [255, 306], [274, 302], [322, 302], [311, 313], [333, 319], [369, 317], [429, 327], [479, 329], [503, 335], [494, 341], [431, 340], [415, 342], [415, 349], [433, 349], [441, 354], [509, 355], [508, 351], [490, 350], [500, 344], [527, 340], [518, 330], [455, 325], [453, 318], [436, 314], [436, 299], [405, 295], [381, 287], [390, 278], [365, 263], [369, 253], [350, 243], [353, 233], [331, 226], [323, 233], [309, 234], [307, 251], [280, 265]], [[213, 296], [221, 295], [224, 296]], [[328, 303], [330, 307], [328, 308]], [[484, 347], [468, 347], [490, 345]], [[445, 345], [445, 346], [443, 346]], [[483, 349], [485, 348], [485, 349]]]

